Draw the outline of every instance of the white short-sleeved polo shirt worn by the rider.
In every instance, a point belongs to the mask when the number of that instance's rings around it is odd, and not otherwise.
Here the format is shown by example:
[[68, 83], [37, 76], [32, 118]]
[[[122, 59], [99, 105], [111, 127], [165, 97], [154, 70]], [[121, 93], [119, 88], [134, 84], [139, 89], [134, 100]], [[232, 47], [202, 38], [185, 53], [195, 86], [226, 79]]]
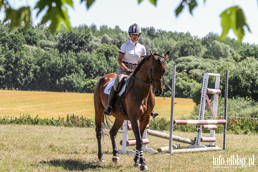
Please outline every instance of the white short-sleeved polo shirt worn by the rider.
[[145, 47], [140, 43], [135, 44], [132, 40], [123, 43], [119, 52], [124, 54], [123, 61], [133, 64], [137, 64], [140, 57], [146, 56]]

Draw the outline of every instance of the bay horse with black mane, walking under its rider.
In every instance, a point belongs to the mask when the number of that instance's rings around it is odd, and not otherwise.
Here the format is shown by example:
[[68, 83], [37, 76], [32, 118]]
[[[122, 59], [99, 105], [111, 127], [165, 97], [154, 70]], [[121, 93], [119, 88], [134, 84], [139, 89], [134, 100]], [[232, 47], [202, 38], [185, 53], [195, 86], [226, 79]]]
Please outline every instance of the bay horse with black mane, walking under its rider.
[[[155, 96], [160, 96], [163, 92], [162, 81], [166, 71], [165, 60], [169, 56], [169, 51], [165, 56], [153, 54], [150, 52], [143, 58], [128, 81], [128, 87], [123, 94], [126, 93], [124, 99], [121, 99], [122, 105], [128, 116], [134, 136], [136, 139], [136, 151], [134, 154], [134, 166], [140, 167], [140, 170], [148, 170], [142, 151], [142, 135], [150, 120], [150, 113], [155, 105]], [[104, 89], [110, 81], [116, 78], [116, 73], [109, 73], [99, 79], [94, 89], [94, 107], [95, 107], [95, 124], [96, 137], [98, 142], [98, 158], [100, 162], [104, 162], [101, 149], [101, 137], [104, 135], [103, 128], [105, 125], [105, 114], [103, 111], [107, 106], [108, 94], [104, 93]], [[153, 89], [153, 91], [152, 91]], [[121, 95], [122, 97], [123, 95]], [[116, 135], [119, 128], [127, 120], [119, 110], [117, 102], [112, 106], [112, 116], [115, 117], [114, 124], [109, 132], [112, 147], [112, 161], [119, 164], [118, 147], [116, 144]]]

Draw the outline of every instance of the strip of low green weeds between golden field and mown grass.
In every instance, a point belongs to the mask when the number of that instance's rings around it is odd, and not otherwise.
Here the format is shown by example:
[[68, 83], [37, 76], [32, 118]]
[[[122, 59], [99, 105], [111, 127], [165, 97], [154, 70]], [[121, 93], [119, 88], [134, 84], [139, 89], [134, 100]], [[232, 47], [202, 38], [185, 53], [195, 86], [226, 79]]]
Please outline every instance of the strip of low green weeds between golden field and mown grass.
[[[186, 120], [186, 118], [180, 118]], [[222, 119], [222, 118], [218, 118]], [[88, 119], [83, 116], [67, 115], [66, 120], [64, 118], [31, 118], [29, 114], [23, 114], [23, 116], [17, 117], [0, 117], [0, 124], [30, 124], [30, 125], [46, 125], [46, 126], [64, 126], [64, 127], [95, 127], [95, 120]], [[170, 121], [166, 118], [155, 118], [149, 122], [151, 130], [169, 130]], [[189, 125], [174, 125], [173, 130], [183, 132], [196, 132], [196, 126]], [[215, 130], [216, 133], [220, 133], [224, 130], [224, 125], [218, 125]], [[250, 118], [228, 118], [227, 119], [227, 131], [234, 134], [248, 134], [249, 132], [258, 133], [258, 120]], [[203, 130], [204, 133], [209, 133], [210, 130]]]

